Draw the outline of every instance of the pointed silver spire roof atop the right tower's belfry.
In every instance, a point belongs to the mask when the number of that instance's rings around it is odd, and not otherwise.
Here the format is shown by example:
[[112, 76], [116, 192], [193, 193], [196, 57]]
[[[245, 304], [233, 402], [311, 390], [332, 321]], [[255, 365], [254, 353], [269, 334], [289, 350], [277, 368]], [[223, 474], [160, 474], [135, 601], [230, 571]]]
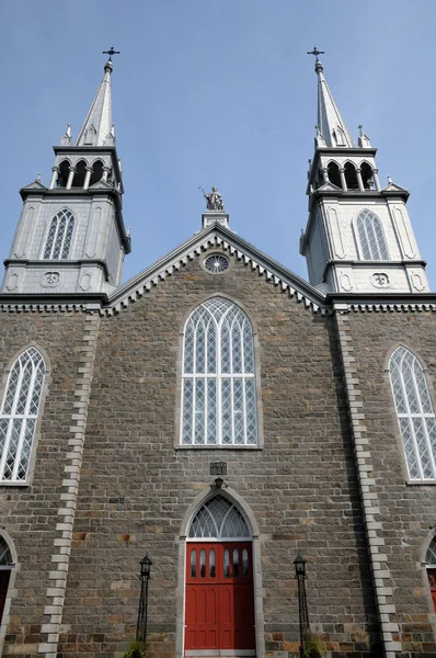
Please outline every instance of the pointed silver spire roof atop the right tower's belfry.
[[353, 148], [355, 144], [334, 102], [333, 94], [325, 82], [324, 68], [318, 57], [314, 63], [314, 70], [318, 75], [317, 128], [323, 138], [319, 140], [319, 146]]

